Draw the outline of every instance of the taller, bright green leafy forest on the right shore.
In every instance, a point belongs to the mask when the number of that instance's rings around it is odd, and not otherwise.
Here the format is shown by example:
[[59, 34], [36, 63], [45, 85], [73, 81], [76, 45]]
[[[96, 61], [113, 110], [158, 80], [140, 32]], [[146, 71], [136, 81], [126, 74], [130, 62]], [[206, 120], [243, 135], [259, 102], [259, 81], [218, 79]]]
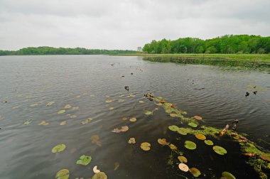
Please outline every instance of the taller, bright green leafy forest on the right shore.
[[143, 48], [144, 53], [270, 53], [270, 37], [226, 35], [202, 40], [152, 40]]

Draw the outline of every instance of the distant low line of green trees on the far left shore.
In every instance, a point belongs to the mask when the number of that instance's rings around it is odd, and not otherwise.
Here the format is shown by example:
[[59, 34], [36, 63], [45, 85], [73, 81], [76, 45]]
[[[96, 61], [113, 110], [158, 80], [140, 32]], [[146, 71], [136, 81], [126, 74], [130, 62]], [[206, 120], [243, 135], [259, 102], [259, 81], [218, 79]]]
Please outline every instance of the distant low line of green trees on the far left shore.
[[22, 48], [16, 51], [0, 50], [0, 55], [112, 55], [136, 53], [134, 50], [99, 50], [86, 48], [52, 48], [52, 47], [38, 47], [38, 48]]

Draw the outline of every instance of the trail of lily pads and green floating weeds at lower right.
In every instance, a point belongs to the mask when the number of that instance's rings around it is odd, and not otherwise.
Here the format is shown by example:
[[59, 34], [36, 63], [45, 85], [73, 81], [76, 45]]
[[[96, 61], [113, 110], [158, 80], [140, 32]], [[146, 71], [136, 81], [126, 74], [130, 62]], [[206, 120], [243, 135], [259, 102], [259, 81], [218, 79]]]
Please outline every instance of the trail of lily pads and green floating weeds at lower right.
[[[166, 102], [163, 97], [154, 97], [153, 94], [147, 93], [145, 96], [150, 100], [156, 102], [156, 105], [163, 107], [166, 113], [168, 113], [171, 117], [176, 117], [180, 119], [180, 124], [186, 123], [188, 126], [191, 126], [194, 129], [191, 128], [184, 128], [184, 127], [178, 127], [175, 125], [168, 126], [168, 129], [174, 132], [177, 132], [180, 135], [187, 135], [187, 134], [193, 134], [195, 137], [199, 140], [202, 140], [205, 142], [206, 145], [212, 146], [213, 151], [215, 153], [220, 155], [225, 155], [227, 153], [226, 149], [222, 146], [214, 146], [214, 143], [211, 140], [206, 140], [206, 136], [211, 136], [215, 139], [221, 139], [220, 132], [222, 129], [216, 129], [215, 127], [210, 126], [200, 126], [200, 121], [203, 122], [201, 116], [193, 116], [193, 117], [186, 117], [184, 116], [186, 112], [181, 111], [180, 109], [177, 109], [177, 107], [174, 106], [174, 104], [171, 104], [169, 102]], [[248, 157], [247, 163], [254, 167], [254, 170], [259, 174], [260, 178], [267, 178], [266, 173], [264, 171], [269, 173], [270, 170], [270, 153], [265, 148], [261, 148], [257, 146], [256, 143], [249, 141], [245, 134], [237, 134], [235, 131], [227, 130], [226, 134], [227, 136], [231, 137], [234, 141], [237, 141], [242, 147], [241, 150], [245, 156]], [[170, 143], [166, 142], [166, 139], [158, 139], [158, 143], [161, 145], [171, 146]], [[196, 144], [193, 141], [185, 141], [185, 148], [188, 148], [190, 150], [195, 150]], [[171, 148], [171, 147], [170, 147]], [[176, 153], [183, 154], [180, 151], [177, 151], [178, 148], [171, 148], [171, 150], [175, 151]], [[180, 158], [181, 156], [179, 156]], [[179, 159], [178, 158], [178, 159]], [[183, 157], [179, 164], [180, 170], [183, 171], [190, 171], [190, 173], [196, 173], [193, 174], [193, 176], [198, 177], [200, 170], [197, 168], [195, 169], [189, 169], [188, 166], [184, 163]], [[198, 172], [199, 171], [199, 172]], [[234, 176], [225, 171], [222, 173], [222, 179], [225, 178], [234, 178]]]

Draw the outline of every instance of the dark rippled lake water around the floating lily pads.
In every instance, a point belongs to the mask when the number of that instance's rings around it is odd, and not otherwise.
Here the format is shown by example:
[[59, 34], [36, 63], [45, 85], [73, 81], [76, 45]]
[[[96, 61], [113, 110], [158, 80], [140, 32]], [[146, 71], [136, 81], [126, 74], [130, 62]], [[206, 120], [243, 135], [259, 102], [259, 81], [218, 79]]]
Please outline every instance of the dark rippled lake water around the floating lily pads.
[[[158, 138], [178, 146], [188, 166], [201, 171], [200, 178], [220, 178], [223, 171], [236, 178], [258, 178], [245, 164], [238, 143], [212, 139], [227, 149], [227, 155], [219, 156], [194, 136], [169, 131], [169, 125], [182, 124], [161, 107], [153, 115], [144, 114], [158, 107], [144, 97], [146, 92], [164, 97], [187, 116], [202, 116], [207, 126], [222, 129], [238, 119], [237, 131], [270, 149], [270, 75], [265, 71], [107, 55], [7, 56], [0, 57], [0, 67], [2, 179], [55, 178], [63, 168], [70, 170], [70, 178], [92, 178], [94, 166], [108, 178], [193, 178], [179, 170], [177, 155], [158, 144]], [[55, 103], [48, 107], [49, 102]], [[71, 108], [58, 114], [66, 104]], [[131, 117], [137, 120], [131, 122]], [[92, 121], [82, 125], [87, 118]], [[31, 124], [23, 125], [27, 120]], [[38, 125], [41, 121], [48, 125]], [[112, 133], [121, 126], [129, 131]], [[100, 143], [92, 143], [96, 135]], [[131, 137], [135, 144], [127, 142]], [[188, 150], [185, 140], [197, 148]], [[141, 150], [142, 142], [151, 143], [151, 150]], [[65, 151], [51, 153], [60, 143]], [[92, 156], [91, 163], [76, 165], [83, 154]], [[173, 166], [167, 165], [171, 155]]]

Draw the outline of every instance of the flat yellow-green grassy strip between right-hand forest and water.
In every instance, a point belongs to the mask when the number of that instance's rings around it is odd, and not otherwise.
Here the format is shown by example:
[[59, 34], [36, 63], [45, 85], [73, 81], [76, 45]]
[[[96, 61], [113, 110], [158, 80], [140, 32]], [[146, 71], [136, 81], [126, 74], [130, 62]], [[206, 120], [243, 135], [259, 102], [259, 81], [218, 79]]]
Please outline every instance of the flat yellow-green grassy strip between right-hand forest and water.
[[270, 54], [117, 54], [124, 56], [143, 56], [151, 58], [183, 58], [183, 59], [205, 59], [205, 60], [244, 60], [249, 62], [267, 62], [270, 63]]

